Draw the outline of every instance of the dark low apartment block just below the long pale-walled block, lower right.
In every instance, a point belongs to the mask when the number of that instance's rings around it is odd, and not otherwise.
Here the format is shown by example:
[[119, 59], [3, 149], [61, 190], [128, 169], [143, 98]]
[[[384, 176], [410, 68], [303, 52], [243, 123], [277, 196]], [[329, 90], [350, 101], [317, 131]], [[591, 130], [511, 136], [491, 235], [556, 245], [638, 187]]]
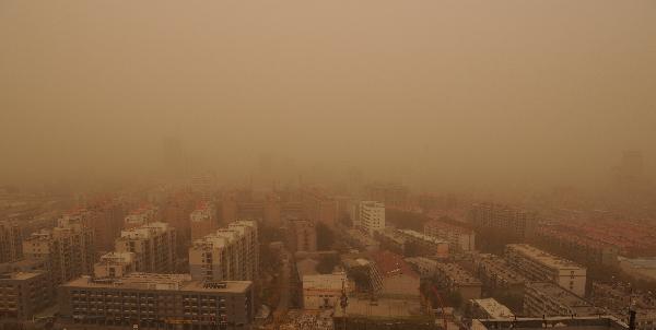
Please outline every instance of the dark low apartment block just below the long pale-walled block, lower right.
[[581, 296], [552, 282], [526, 284], [524, 314], [527, 316], [593, 316], [598, 311]]

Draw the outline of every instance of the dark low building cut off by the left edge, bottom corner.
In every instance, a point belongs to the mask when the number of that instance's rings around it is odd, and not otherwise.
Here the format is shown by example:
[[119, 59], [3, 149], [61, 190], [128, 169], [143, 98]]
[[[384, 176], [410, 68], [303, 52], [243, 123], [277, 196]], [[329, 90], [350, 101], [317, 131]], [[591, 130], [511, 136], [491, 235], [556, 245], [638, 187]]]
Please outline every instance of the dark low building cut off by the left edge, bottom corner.
[[0, 273], [0, 320], [28, 320], [52, 303], [47, 272]]

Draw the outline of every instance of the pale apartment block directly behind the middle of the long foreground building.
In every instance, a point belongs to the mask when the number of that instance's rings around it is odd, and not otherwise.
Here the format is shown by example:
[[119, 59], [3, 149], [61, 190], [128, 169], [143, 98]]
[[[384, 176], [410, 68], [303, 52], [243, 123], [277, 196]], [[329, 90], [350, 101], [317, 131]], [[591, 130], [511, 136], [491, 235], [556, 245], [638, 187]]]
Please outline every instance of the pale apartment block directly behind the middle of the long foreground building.
[[138, 272], [174, 273], [177, 262], [177, 236], [167, 223], [153, 222], [121, 231], [116, 252], [133, 252]]

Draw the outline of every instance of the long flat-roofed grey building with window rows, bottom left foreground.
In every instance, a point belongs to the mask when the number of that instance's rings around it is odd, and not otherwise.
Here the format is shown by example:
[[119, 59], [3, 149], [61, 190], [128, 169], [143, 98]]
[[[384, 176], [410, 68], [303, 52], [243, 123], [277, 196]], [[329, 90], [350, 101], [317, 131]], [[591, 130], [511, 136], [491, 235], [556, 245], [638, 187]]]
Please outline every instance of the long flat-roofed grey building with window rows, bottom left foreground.
[[249, 281], [200, 282], [189, 274], [79, 278], [59, 287], [68, 329], [251, 329]]

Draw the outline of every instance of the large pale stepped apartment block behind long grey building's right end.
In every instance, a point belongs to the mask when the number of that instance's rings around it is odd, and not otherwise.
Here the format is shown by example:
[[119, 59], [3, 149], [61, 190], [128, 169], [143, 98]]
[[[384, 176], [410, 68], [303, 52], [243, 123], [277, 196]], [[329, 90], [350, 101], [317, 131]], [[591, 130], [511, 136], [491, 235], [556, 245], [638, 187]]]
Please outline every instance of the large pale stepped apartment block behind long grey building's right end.
[[254, 281], [258, 274], [257, 223], [236, 221], [194, 241], [189, 269], [197, 280]]

